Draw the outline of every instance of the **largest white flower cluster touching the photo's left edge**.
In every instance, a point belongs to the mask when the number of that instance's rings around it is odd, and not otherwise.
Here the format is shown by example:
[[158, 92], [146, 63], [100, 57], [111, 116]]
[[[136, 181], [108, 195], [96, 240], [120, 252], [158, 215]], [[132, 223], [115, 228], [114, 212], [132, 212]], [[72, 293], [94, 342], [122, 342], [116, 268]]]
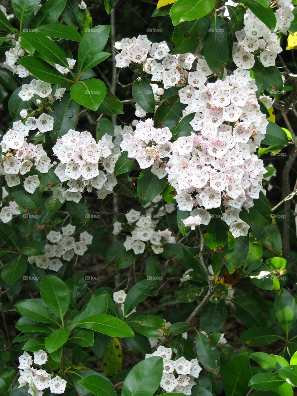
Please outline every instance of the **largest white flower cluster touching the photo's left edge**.
[[[0, 174], [5, 175], [8, 187], [19, 185], [21, 183], [19, 176], [28, 173], [33, 165], [40, 173], [48, 172], [51, 166], [42, 144], [34, 145], [27, 142], [26, 137], [30, 129], [30, 126], [24, 125], [21, 121], [13, 122], [12, 128], [6, 132], [0, 143], [2, 153], [6, 153], [1, 156]], [[23, 185], [27, 192], [33, 194], [39, 186], [38, 176], [28, 176]]]

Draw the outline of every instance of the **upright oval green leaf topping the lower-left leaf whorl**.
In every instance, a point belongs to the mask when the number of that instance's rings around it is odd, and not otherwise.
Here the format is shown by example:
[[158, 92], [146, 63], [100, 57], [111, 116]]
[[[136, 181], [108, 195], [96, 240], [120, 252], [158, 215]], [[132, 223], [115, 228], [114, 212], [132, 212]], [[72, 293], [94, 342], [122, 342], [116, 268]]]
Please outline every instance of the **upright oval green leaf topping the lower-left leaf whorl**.
[[44, 276], [40, 282], [40, 295], [48, 308], [63, 319], [70, 303], [70, 291], [65, 282], [54, 275]]

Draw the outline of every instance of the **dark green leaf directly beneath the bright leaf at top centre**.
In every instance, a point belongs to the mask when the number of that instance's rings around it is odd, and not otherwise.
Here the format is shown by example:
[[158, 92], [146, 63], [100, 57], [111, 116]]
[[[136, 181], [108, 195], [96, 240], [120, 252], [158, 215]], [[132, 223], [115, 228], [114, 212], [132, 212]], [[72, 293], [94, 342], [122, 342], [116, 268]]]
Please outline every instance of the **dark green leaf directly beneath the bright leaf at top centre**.
[[206, 36], [209, 15], [194, 21], [181, 22], [175, 26], [172, 37], [172, 53], [194, 52], [200, 39]]

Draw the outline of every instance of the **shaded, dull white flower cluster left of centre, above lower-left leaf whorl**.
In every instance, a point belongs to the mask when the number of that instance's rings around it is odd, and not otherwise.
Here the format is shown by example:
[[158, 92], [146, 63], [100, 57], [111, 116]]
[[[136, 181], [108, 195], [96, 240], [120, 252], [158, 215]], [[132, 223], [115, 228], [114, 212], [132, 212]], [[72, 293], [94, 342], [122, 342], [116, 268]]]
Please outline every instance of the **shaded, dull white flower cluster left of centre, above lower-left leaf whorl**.
[[36, 267], [58, 271], [63, 263], [60, 260], [62, 257], [65, 261], [70, 261], [76, 254], [83, 256], [88, 250], [87, 245], [92, 243], [93, 236], [84, 231], [80, 233], [80, 240], [75, 242], [74, 232], [75, 227], [68, 224], [61, 228], [62, 234], [59, 231], [51, 230], [46, 236], [47, 240], [53, 245], [46, 244], [46, 254], [41, 256], [30, 256], [28, 261], [31, 264], [36, 264]]

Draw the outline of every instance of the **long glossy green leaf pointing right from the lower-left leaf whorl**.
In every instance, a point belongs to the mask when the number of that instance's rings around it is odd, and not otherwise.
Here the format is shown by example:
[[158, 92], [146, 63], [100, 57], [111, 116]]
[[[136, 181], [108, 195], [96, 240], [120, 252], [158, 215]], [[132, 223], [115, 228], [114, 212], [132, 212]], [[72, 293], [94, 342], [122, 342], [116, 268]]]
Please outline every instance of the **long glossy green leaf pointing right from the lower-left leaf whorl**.
[[128, 324], [114, 316], [98, 314], [80, 320], [74, 326], [91, 329], [110, 337], [133, 337], [134, 332]]

